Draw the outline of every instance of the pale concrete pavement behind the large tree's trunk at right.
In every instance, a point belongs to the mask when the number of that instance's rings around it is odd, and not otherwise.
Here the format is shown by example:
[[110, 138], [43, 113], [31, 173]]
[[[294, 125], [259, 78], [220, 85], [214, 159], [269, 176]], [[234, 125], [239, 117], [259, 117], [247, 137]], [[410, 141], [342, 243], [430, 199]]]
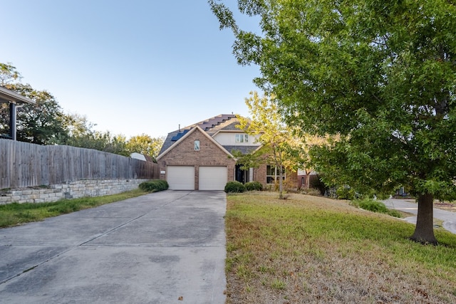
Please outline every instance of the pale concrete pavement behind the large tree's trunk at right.
[[[397, 209], [411, 214], [418, 214], [418, 204], [405, 199], [386, 199], [383, 201], [390, 209]], [[416, 225], [417, 216], [409, 216], [405, 221]], [[443, 228], [456, 234], [456, 212], [434, 208], [434, 219], [443, 221]]]

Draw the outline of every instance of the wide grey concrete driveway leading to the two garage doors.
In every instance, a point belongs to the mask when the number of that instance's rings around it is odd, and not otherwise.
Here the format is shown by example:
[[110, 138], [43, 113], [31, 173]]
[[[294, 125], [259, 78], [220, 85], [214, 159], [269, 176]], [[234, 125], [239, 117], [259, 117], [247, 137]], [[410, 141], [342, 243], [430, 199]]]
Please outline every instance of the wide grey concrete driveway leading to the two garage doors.
[[0, 303], [224, 303], [225, 211], [165, 191], [0, 229]]

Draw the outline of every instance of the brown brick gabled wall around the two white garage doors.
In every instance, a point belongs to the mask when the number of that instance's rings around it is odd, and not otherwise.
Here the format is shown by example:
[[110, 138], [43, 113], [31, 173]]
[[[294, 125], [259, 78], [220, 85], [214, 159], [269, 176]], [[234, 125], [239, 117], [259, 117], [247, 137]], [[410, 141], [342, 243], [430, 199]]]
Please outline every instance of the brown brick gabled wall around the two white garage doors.
[[[199, 151], [195, 151], [195, 140], [199, 140]], [[179, 142], [167, 154], [160, 157], [160, 171], [166, 172], [166, 166], [195, 166], [195, 189], [199, 185], [199, 166], [226, 166], [228, 181], [234, 180], [234, 166], [236, 161], [229, 159], [228, 154], [218, 147], [207, 135], [195, 129], [182, 142]], [[160, 179], [166, 179], [160, 174]]]

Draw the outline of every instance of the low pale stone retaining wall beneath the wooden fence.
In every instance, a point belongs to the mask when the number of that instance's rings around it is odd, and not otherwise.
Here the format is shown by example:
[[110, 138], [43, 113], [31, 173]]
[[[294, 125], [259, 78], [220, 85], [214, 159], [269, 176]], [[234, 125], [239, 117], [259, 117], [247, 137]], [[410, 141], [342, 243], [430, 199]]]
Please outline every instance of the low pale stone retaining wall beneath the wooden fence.
[[0, 190], [0, 204], [44, 203], [59, 199], [118, 194], [138, 188], [147, 179], [95, 179], [43, 187]]

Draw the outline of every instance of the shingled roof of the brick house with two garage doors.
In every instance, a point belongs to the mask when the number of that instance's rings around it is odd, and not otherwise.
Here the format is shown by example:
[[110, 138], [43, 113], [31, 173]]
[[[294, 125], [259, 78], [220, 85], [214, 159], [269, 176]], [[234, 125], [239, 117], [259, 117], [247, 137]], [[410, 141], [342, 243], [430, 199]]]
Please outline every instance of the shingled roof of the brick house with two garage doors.
[[[175, 130], [173, 132], [168, 133], [165, 142], [163, 142], [162, 149], [160, 150], [160, 153], [158, 154], [158, 157], [161, 157], [162, 154], [164, 154], [167, 150], [170, 149], [173, 145], [175, 145], [176, 142], [179, 142], [182, 138], [186, 137], [186, 135], [191, 132], [191, 130], [195, 129], [196, 127], [199, 127], [202, 132], [204, 132], [208, 137], [214, 137], [217, 135], [219, 132], [242, 132], [242, 130], [239, 130], [238, 127], [239, 125], [239, 120], [237, 120], [236, 115], [234, 114], [221, 114], [217, 115], [215, 117], [209, 118], [207, 120], [203, 120], [202, 122], [197, 122], [194, 125], [190, 125], [188, 127], [182, 128], [181, 130]], [[214, 142], [219, 145], [217, 141], [214, 140]], [[229, 154], [233, 150], [239, 150], [243, 154], [247, 154], [250, 152], [253, 152], [254, 150], [257, 150], [259, 148], [258, 145], [226, 145], [222, 146], [224, 150], [226, 150]]]

